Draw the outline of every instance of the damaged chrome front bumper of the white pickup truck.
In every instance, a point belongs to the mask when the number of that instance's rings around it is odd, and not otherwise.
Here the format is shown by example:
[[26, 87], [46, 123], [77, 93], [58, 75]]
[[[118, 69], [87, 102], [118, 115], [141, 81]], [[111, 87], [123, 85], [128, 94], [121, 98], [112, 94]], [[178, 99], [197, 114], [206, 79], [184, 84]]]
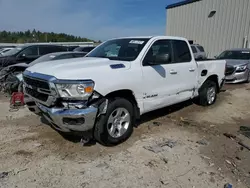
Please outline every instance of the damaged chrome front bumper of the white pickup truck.
[[51, 125], [61, 132], [86, 132], [95, 125], [98, 108], [88, 106], [82, 109], [46, 107], [36, 103], [42, 115]]

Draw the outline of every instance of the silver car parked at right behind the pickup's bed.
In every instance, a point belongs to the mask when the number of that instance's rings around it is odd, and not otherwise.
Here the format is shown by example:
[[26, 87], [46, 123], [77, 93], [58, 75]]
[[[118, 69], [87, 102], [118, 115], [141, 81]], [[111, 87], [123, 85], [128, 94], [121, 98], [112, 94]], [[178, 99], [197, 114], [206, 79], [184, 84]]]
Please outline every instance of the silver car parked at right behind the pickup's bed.
[[250, 81], [250, 49], [239, 48], [222, 52], [217, 59], [225, 59], [226, 83]]

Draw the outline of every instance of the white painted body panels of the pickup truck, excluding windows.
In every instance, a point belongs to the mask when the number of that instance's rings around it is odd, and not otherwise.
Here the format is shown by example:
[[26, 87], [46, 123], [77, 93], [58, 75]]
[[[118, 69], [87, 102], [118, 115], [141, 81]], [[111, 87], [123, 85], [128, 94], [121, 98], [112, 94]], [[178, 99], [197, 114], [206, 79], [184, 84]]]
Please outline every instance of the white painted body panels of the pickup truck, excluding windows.
[[[210, 75], [217, 75], [219, 83], [221, 83], [224, 78], [226, 62], [224, 60], [211, 60], [197, 63], [190, 45], [191, 62], [142, 66], [143, 58], [148, 49], [154, 41], [161, 39], [183, 40], [189, 45], [185, 38], [158, 36], [150, 38], [138, 57], [131, 62], [85, 57], [56, 60], [53, 63], [40, 63], [27, 70], [52, 75], [57, 79], [91, 79], [95, 82], [95, 90], [104, 96], [117, 90], [131, 90], [135, 95], [141, 114], [195, 97], [198, 94], [198, 88]], [[110, 65], [117, 63], [124, 64], [125, 68], [112, 69], [110, 67]], [[203, 69], [208, 70], [208, 74], [201, 77]], [[177, 74], [170, 74], [171, 71], [176, 71]], [[155, 96], [147, 97], [153, 95]]]

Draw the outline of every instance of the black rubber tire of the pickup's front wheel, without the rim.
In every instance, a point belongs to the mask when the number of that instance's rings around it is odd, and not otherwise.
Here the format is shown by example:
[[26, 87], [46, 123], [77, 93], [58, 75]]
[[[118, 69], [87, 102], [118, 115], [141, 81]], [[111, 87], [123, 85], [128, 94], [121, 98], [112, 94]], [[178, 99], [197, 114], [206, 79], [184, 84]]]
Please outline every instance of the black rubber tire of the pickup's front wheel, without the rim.
[[[118, 98], [118, 97], [110, 99], [109, 101], [110, 102], [108, 104], [107, 112], [105, 115], [101, 115], [100, 117], [98, 117], [93, 133], [94, 138], [100, 144], [105, 146], [117, 145], [127, 140], [133, 133], [133, 126], [135, 123], [133, 104], [131, 102], [129, 102], [124, 98]], [[107, 122], [111, 113], [113, 113], [114, 110], [117, 108], [125, 108], [129, 112], [130, 123], [127, 128], [127, 131], [122, 136], [115, 138], [109, 134]]]

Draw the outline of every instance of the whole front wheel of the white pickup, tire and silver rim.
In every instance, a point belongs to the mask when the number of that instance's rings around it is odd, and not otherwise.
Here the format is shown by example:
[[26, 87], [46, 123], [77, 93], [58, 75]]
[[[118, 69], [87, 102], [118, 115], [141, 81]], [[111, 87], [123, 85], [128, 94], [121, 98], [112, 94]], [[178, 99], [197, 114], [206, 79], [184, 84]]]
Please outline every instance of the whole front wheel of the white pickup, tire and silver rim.
[[133, 132], [133, 105], [124, 98], [115, 98], [108, 104], [94, 128], [94, 138], [103, 145], [117, 145], [128, 139]]

